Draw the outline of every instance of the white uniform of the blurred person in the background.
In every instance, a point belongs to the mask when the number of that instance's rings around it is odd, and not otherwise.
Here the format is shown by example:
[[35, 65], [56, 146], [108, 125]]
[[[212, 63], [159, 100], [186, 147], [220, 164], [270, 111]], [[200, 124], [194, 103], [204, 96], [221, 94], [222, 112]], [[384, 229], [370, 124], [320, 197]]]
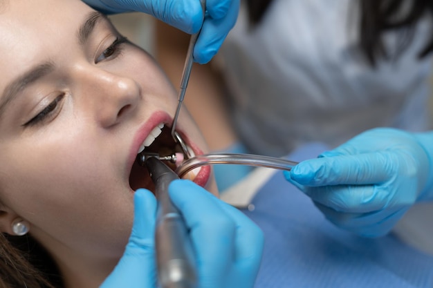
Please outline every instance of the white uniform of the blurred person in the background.
[[[253, 153], [286, 155], [313, 141], [334, 147], [377, 126], [430, 128], [431, 59], [417, 59], [430, 23], [418, 24], [396, 61], [374, 70], [357, 46], [356, 3], [274, 0], [255, 30], [241, 8], [218, 57], [234, 125]], [[386, 36], [395, 47], [396, 33]]]

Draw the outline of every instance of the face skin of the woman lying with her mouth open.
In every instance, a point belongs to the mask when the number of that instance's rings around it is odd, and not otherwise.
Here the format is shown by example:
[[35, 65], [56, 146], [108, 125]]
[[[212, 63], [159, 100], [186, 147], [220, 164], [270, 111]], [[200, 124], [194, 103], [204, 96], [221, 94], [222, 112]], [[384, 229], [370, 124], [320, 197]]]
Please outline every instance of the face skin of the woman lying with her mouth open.
[[[171, 124], [178, 100], [147, 53], [116, 46], [107, 19], [93, 17], [80, 34], [92, 13], [78, 0], [0, 5], [0, 228], [28, 221], [69, 287], [98, 285], [122, 256], [134, 157], [154, 126]], [[196, 153], [207, 152], [187, 111], [178, 129]], [[210, 171], [202, 174], [216, 194]]]

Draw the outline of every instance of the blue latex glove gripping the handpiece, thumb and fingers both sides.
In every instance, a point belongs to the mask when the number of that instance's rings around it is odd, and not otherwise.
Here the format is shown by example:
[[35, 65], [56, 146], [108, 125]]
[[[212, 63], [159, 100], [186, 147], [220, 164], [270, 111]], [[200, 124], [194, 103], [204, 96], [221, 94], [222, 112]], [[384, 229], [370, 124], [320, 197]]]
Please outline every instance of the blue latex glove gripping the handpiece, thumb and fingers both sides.
[[[196, 256], [199, 288], [250, 288], [261, 261], [263, 233], [241, 213], [188, 180], [169, 186], [183, 213]], [[131, 237], [124, 256], [100, 288], [156, 288], [156, 200], [145, 189], [134, 195]]]

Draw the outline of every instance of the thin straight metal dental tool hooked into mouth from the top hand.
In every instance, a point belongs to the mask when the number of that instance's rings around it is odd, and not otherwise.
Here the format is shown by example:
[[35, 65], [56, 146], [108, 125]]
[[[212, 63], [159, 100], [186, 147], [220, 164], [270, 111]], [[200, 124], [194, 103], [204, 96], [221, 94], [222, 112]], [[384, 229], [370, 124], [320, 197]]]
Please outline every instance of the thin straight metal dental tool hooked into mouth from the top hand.
[[[206, 0], [200, 0], [201, 8], [203, 10], [203, 19], [205, 17], [205, 11], [206, 11]], [[183, 142], [181, 136], [176, 132], [176, 123], [179, 116], [179, 113], [181, 112], [181, 106], [183, 102], [183, 98], [185, 97], [185, 91], [187, 90], [188, 81], [190, 80], [191, 75], [191, 69], [192, 69], [192, 63], [193, 63], [193, 52], [194, 52], [194, 46], [196, 45], [197, 38], [199, 38], [201, 32], [201, 28], [199, 32], [196, 32], [196, 34], [191, 36], [190, 44], [188, 46], [187, 50], [187, 57], [185, 59], [185, 66], [183, 66], [183, 72], [182, 72], [182, 78], [181, 78], [181, 89], [179, 90], [179, 97], [178, 97], [178, 106], [176, 108], [176, 113], [174, 114], [173, 123], [172, 123], [172, 137], [174, 141], [176, 141], [178, 144], [181, 145], [183, 153], [185, 153], [186, 158], [191, 157], [190, 150], [187, 148], [185, 142]]]

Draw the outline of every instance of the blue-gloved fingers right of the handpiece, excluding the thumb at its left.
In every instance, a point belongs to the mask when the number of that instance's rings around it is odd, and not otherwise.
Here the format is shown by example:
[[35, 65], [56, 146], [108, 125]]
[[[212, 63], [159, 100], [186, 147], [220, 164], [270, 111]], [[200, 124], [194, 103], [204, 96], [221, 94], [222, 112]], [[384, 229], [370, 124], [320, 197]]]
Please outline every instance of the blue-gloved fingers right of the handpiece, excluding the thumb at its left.
[[241, 211], [190, 180], [175, 180], [169, 195], [190, 229], [200, 288], [251, 288], [264, 236]]

